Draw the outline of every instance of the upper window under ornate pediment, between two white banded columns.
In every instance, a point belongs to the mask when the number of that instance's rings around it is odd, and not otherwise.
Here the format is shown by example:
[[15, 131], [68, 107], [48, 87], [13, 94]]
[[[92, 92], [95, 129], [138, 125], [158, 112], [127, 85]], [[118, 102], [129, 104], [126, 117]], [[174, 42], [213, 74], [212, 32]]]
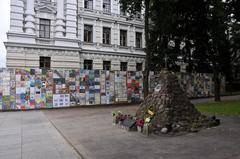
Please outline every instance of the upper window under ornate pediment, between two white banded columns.
[[40, 19], [39, 37], [50, 38], [50, 20], [49, 19]]

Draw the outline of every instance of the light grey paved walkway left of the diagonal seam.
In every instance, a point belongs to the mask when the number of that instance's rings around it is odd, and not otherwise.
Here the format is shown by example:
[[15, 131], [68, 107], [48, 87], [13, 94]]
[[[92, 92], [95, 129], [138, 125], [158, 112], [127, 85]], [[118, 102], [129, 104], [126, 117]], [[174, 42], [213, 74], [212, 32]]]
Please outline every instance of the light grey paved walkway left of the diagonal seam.
[[42, 111], [0, 113], [1, 159], [80, 159]]

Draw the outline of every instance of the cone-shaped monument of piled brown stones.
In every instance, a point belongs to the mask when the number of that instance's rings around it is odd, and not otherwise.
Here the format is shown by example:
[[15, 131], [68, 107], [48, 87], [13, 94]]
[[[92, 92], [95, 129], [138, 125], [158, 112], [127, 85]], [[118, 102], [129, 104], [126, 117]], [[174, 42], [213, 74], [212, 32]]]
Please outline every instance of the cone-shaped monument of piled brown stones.
[[136, 113], [137, 119], [150, 119], [148, 129], [156, 133], [196, 132], [219, 125], [218, 119], [194, 107], [174, 73], [162, 71], [160, 77], [159, 89], [143, 101]]

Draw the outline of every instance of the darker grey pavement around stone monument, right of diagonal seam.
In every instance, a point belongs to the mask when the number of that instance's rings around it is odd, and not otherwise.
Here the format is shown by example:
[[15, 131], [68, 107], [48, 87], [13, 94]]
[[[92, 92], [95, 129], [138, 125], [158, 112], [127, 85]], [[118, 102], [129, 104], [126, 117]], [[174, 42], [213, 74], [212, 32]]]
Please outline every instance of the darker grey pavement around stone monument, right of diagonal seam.
[[240, 159], [240, 117], [199, 133], [149, 137], [112, 125], [111, 111], [134, 113], [137, 106], [44, 111], [86, 159]]

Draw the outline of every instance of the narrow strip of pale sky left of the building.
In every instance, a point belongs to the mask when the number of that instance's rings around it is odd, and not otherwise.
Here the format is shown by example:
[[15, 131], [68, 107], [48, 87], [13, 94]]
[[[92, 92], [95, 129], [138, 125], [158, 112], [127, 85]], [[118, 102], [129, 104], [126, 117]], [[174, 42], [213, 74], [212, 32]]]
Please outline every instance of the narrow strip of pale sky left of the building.
[[0, 2], [0, 68], [6, 67], [6, 49], [3, 42], [7, 41], [6, 33], [10, 28], [10, 0]]

